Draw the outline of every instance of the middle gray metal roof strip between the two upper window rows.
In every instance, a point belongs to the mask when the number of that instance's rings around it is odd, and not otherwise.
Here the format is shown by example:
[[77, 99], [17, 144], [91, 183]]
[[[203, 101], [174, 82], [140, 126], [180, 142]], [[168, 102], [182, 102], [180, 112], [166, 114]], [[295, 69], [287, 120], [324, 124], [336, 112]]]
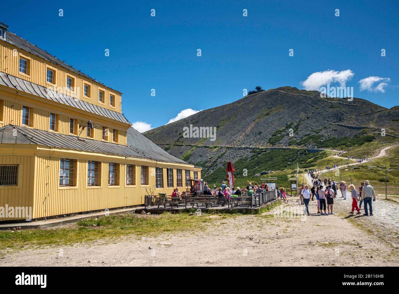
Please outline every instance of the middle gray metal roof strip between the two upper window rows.
[[98, 105], [82, 101], [77, 98], [73, 98], [63, 93], [53, 91], [41, 85], [31, 83], [30, 81], [25, 81], [24, 79], [20, 79], [19, 77], [14, 77], [14, 75], [9, 75], [4, 72], [0, 72], [0, 85], [7, 86], [13, 89], [18, 89], [18, 91], [24, 91], [26, 93], [30, 93], [45, 99], [59, 102], [61, 104], [76, 107], [91, 113], [95, 113], [131, 125], [131, 123], [122, 113], [106, 109]]

